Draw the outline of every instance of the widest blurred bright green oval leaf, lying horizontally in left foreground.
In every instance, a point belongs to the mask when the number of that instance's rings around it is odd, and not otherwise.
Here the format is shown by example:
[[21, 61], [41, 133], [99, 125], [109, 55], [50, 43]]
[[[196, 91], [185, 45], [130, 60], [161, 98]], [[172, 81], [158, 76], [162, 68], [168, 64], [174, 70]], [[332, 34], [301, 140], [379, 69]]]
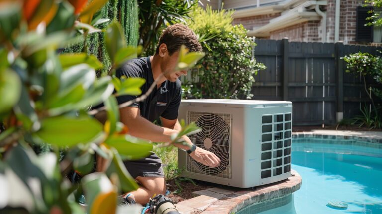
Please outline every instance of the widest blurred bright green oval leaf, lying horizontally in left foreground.
[[102, 134], [102, 124], [89, 117], [49, 117], [41, 121], [41, 129], [33, 138], [48, 144], [64, 147], [89, 143]]

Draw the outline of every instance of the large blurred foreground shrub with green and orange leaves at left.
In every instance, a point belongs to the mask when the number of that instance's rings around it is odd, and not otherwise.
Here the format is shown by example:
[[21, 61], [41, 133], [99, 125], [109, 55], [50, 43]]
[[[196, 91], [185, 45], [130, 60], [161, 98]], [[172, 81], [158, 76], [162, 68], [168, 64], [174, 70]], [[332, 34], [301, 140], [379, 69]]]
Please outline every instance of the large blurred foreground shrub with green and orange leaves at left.
[[[107, 1], [1, 1], [0, 213], [113, 214], [118, 194], [138, 188], [122, 160], [145, 157], [153, 145], [126, 133], [113, 91], [139, 95], [145, 80], [97, 79], [95, 70], [104, 65], [94, 55], [58, 51], [101, 31], [92, 19]], [[137, 56], [117, 21], [107, 25], [102, 41], [112, 65], [106, 74]], [[178, 67], [203, 56], [186, 52], [181, 46]], [[104, 124], [94, 117], [99, 109], [88, 110], [102, 102]], [[168, 145], [197, 129], [189, 124]], [[96, 154], [106, 162], [99, 172], [93, 169]], [[83, 176], [79, 184], [68, 181], [73, 170]], [[82, 193], [86, 208], [77, 203]], [[134, 213], [129, 208], [124, 213]]]

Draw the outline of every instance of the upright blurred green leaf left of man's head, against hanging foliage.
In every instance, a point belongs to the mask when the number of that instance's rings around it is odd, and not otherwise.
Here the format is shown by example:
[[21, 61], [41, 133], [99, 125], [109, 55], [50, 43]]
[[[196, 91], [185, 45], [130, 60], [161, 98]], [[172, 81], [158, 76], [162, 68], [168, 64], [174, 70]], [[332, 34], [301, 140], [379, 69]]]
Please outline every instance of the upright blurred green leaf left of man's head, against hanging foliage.
[[123, 31], [119, 22], [115, 21], [107, 26], [104, 34], [104, 41], [107, 53], [114, 65], [118, 50], [126, 46], [125, 37], [123, 36]]

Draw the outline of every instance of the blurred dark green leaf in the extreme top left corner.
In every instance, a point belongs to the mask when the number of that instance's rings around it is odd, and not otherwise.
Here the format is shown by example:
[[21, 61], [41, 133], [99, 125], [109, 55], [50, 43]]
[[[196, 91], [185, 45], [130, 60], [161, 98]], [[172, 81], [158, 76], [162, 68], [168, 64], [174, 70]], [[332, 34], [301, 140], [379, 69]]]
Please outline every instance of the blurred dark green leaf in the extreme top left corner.
[[11, 39], [13, 31], [21, 20], [21, 6], [19, 2], [2, 2], [0, 7], [0, 34]]

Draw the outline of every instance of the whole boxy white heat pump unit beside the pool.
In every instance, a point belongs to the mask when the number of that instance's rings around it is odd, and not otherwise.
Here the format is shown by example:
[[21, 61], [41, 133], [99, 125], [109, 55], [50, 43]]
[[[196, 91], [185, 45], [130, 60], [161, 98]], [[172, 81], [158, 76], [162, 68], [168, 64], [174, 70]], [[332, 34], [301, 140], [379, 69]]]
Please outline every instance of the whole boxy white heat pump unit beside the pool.
[[195, 122], [202, 131], [189, 136], [191, 141], [221, 160], [211, 168], [179, 150], [182, 176], [241, 188], [291, 176], [291, 102], [182, 100], [179, 118]]

